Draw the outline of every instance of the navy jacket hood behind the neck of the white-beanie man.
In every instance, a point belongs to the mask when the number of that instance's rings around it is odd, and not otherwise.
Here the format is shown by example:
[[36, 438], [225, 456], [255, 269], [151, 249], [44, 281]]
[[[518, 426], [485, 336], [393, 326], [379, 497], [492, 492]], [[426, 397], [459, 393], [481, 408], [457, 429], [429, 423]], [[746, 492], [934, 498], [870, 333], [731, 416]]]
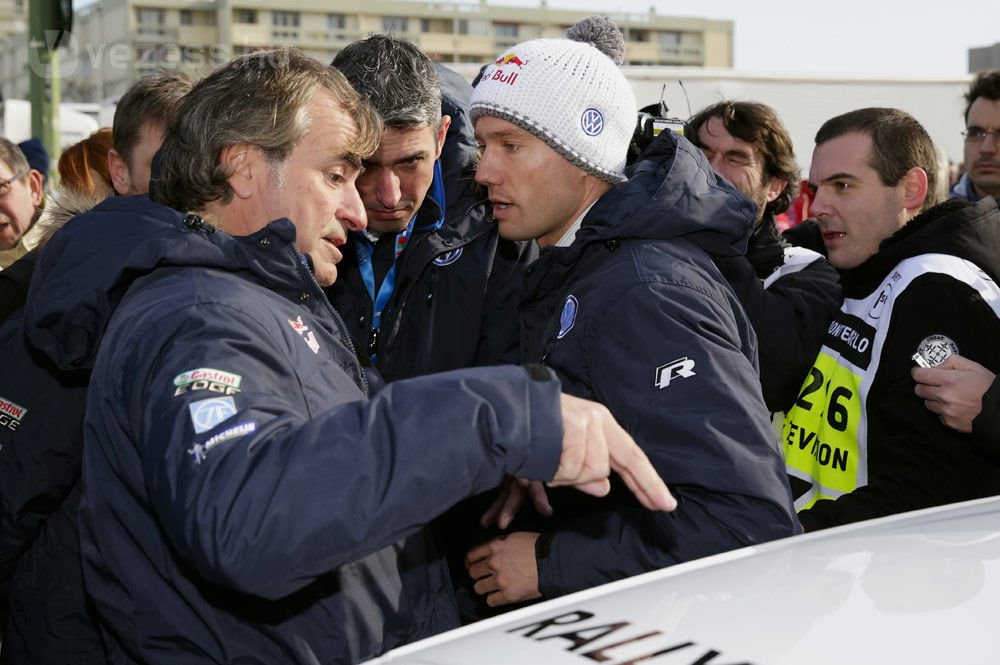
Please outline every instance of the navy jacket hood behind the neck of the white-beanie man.
[[746, 252], [756, 205], [716, 175], [684, 137], [662, 132], [628, 178], [594, 204], [574, 246], [683, 237], [719, 256]]

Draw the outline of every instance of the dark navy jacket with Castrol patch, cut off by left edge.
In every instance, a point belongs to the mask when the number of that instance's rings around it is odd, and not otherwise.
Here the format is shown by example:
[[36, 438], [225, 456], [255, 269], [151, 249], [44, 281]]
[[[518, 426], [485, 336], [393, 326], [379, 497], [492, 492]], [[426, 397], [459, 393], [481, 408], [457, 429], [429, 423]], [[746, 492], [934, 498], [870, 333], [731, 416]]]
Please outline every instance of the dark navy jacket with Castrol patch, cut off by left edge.
[[0, 328], [0, 662], [106, 663], [83, 590], [77, 509], [89, 372], [63, 372]]

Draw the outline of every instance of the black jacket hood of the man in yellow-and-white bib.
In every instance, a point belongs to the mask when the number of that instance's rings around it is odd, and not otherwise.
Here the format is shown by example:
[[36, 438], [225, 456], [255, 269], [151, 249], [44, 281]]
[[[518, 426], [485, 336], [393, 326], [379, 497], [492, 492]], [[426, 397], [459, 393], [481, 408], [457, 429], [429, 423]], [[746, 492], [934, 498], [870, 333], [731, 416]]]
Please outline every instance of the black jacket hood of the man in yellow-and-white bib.
[[977, 203], [955, 198], [925, 210], [884, 240], [878, 253], [841, 273], [844, 296], [868, 295], [900, 261], [920, 254], [949, 254], [967, 259], [1000, 283], [997, 205], [991, 197]]

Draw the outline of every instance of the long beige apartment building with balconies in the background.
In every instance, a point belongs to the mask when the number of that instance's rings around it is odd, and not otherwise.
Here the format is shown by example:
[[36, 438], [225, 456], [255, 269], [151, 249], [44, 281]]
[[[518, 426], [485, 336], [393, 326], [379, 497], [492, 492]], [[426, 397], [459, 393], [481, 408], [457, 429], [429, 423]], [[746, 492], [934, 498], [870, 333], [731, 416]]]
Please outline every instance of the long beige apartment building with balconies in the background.
[[[26, 4], [0, 0], [0, 34], [8, 25], [16, 30]], [[549, 7], [545, 0], [535, 7], [486, 0], [299, 0], [291, 7], [284, 0], [101, 0], [85, 6], [60, 49], [63, 100], [101, 102], [157, 69], [202, 76], [233, 55], [286, 44], [328, 62], [352, 41], [390, 31], [435, 60], [473, 66], [526, 39], [560, 36], [589, 13]], [[6, 15], [15, 18], [4, 21]], [[733, 66], [732, 21], [661, 16], [653, 9], [610, 15], [625, 33], [627, 65]], [[16, 31], [0, 42], [5, 97], [27, 96], [26, 51]]]

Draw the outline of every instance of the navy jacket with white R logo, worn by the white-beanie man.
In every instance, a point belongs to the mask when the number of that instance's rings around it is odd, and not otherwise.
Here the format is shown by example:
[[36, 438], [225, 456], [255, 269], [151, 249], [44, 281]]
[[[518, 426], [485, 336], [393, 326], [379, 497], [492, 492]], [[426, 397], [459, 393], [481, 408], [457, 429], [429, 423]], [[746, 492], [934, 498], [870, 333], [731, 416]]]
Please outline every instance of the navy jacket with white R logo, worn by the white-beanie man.
[[643, 510], [622, 486], [557, 507], [537, 551], [546, 597], [798, 531], [754, 333], [710, 256], [745, 252], [753, 204], [660, 136], [572, 246], [542, 251], [521, 341], [566, 392], [607, 405], [679, 507]]

